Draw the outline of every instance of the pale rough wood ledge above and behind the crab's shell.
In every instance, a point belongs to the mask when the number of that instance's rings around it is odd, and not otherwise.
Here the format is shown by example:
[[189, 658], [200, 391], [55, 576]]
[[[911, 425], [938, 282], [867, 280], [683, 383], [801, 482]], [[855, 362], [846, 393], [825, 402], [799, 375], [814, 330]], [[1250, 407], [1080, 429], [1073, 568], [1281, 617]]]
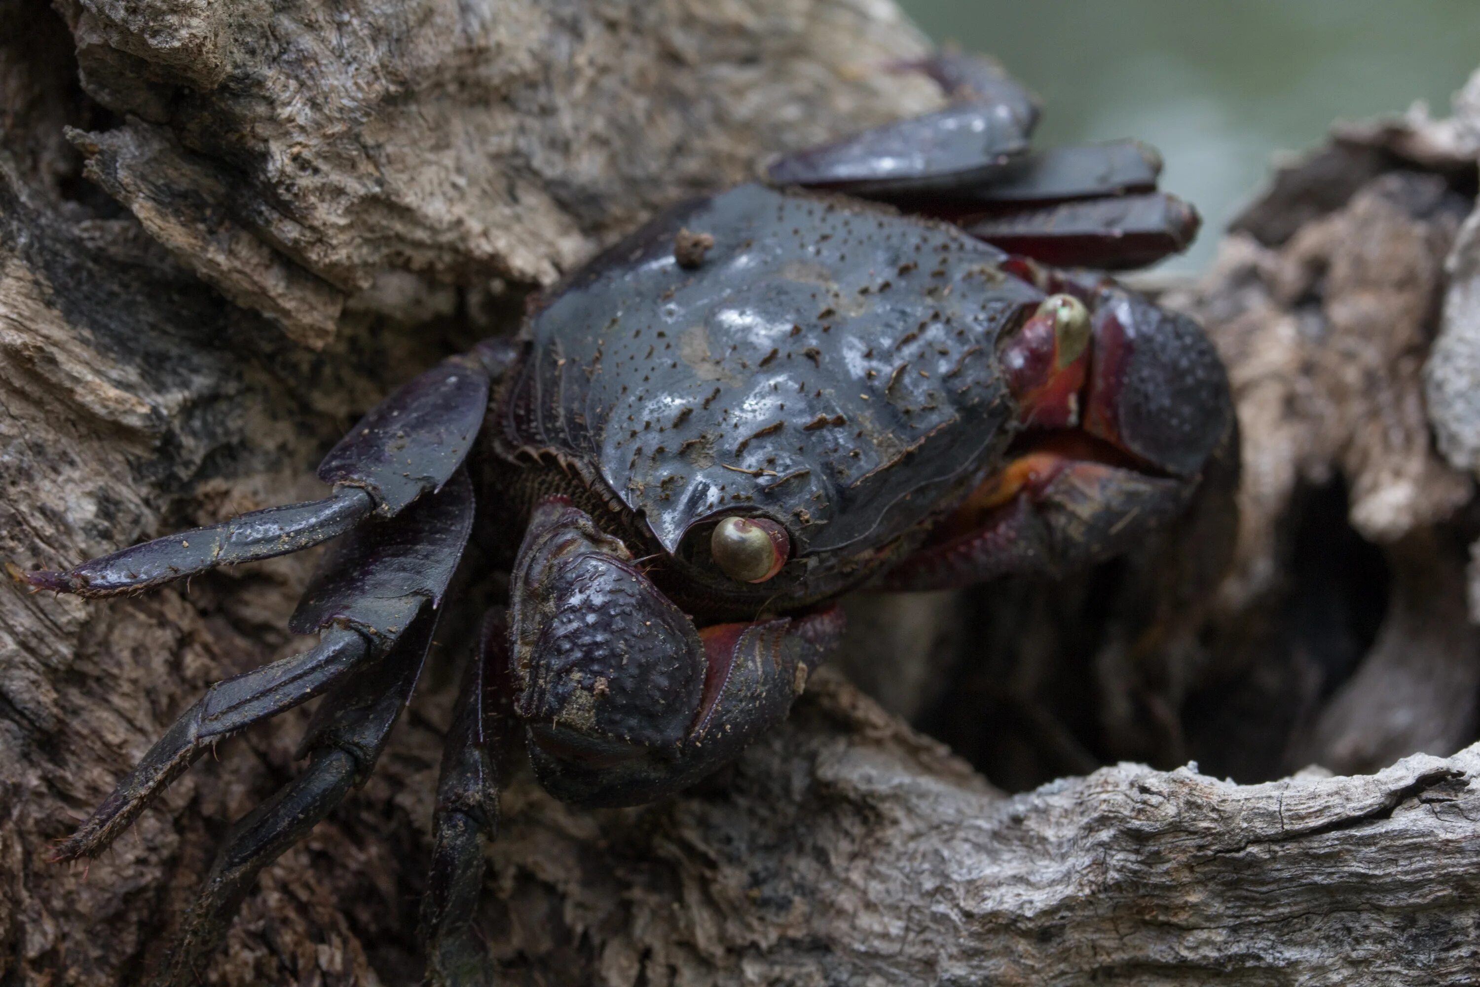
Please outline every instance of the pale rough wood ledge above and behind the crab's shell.
[[[64, 0], [124, 117], [89, 172], [234, 302], [323, 346], [377, 283], [549, 284], [758, 154], [932, 108], [866, 0]], [[847, 123], [844, 123], [847, 121]]]

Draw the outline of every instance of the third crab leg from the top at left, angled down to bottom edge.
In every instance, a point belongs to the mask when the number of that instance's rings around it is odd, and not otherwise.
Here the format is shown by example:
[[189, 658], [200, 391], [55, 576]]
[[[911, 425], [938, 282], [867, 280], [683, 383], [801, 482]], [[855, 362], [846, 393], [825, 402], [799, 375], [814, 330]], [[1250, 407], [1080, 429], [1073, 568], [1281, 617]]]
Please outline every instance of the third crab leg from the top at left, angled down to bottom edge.
[[197, 965], [216, 951], [262, 869], [370, 777], [416, 687], [435, 623], [435, 614], [423, 610], [383, 661], [342, 681], [324, 697], [299, 747], [299, 756], [309, 756], [308, 767], [232, 827], [185, 916], [157, 981], [161, 987], [197, 983]]

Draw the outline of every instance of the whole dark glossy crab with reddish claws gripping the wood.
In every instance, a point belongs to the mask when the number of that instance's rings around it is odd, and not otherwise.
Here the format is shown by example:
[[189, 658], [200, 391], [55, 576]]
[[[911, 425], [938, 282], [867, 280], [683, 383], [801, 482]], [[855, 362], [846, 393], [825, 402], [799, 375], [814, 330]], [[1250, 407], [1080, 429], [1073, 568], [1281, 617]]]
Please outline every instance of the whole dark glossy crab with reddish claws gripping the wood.
[[108, 596], [339, 537], [290, 624], [317, 647], [213, 685], [56, 854], [96, 855], [213, 743], [324, 695], [306, 769], [235, 826], [167, 980], [366, 780], [475, 528], [469, 561], [509, 573], [509, 598], [443, 762], [422, 934], [450, 980], [478, 968], [482, 841], [521, 735], [561, 799], [672, 793], [786, 716], [839, 593], [1085, 565], [1231, 465], [1199, 329], [1082, 271], [1190, 238], [1154, 155], [1029, 152], [1036, 107], [995, 68], [909, 68], [952, 105], [644, 226], [518, 340], [371, 410], [320, 466], [330, 497], [24, 577]]

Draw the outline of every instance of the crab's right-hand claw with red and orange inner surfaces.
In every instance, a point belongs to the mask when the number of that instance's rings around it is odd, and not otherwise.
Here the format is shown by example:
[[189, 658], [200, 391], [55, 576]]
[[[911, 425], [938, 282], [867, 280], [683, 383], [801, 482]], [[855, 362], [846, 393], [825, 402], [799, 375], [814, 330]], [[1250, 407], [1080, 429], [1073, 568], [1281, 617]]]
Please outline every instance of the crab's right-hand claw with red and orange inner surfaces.
[[1141, 542], [1205, 475], [1233, 475], [1221, 469], [1236, 456], [1228, 379], [1197, 324], [1114, 286], [1072, 290], [1002, 349], [1024, 425], [1006, 465], [889, 573], [891, 587], [1057, 577]]

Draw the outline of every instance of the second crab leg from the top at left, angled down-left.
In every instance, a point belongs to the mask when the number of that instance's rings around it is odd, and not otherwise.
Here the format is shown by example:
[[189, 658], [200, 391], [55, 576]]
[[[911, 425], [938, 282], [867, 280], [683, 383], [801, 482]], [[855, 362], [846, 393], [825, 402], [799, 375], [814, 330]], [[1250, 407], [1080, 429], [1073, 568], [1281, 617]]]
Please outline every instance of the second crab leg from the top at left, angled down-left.
[[96, 857], [212, 744], [320, 695], [395, 647], [438, 605], [472, 527], [472, 487], [454, 475], [438, 494], [389, 521], [355, 528], [327, 555], [292, 620], [323, 632], [317, 648], [218, 682], [191, 706], [56, 851]]

